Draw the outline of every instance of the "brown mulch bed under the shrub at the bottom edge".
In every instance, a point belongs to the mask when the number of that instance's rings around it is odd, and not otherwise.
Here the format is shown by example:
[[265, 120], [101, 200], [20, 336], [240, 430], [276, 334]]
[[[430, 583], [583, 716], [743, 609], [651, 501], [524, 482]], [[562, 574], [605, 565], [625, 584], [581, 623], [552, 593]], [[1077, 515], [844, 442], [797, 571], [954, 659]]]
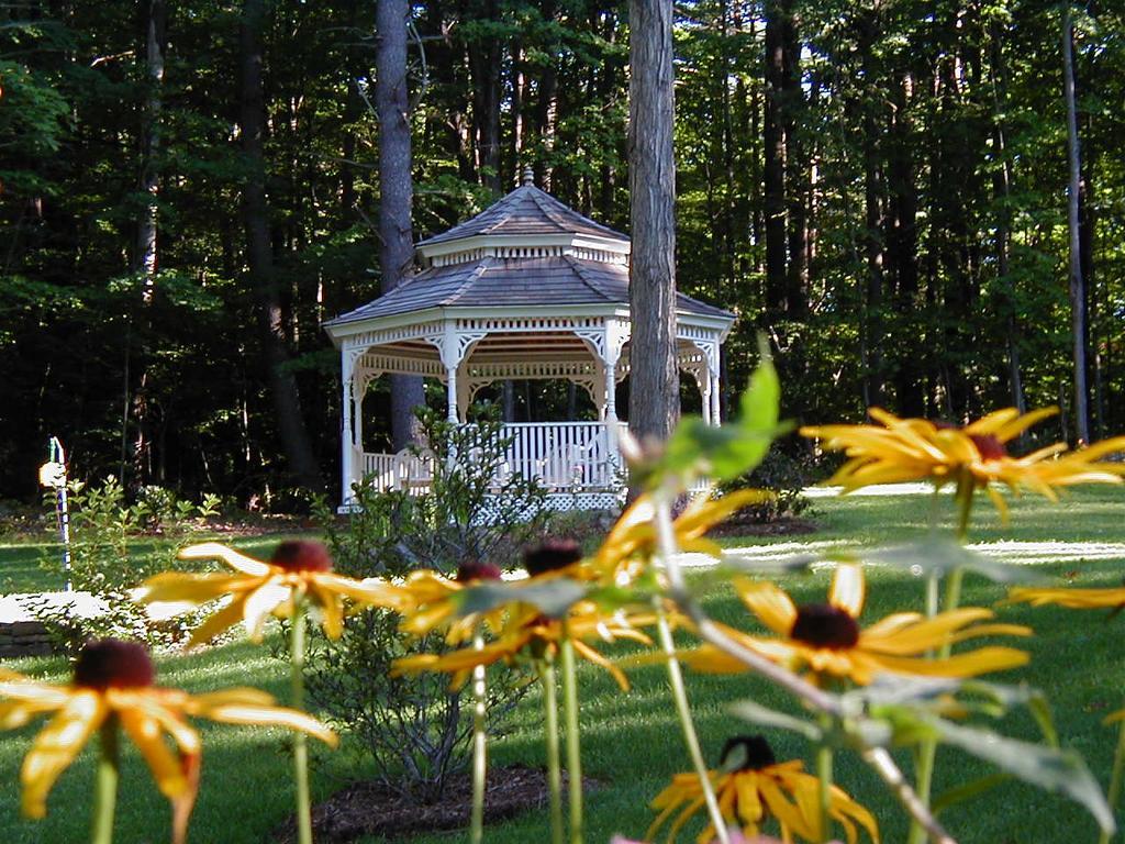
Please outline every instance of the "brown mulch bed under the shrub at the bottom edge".
[[[585, 791], [597, 783], [583, 778]], [[566, 799], [567, 779], [562, 773]], [[547, 807], [547, 772], [525, 765], [489, 769], [485, 790], [485, 820], [493, 823], [529, 809]], [[363, 835], [406, 836], [469, 825], [472, 781], [469, 775], [451, 780], [436, 803], [423, 806], [376, 782], [357, 782], [313, 807], [313, 834], [321, 844], [346, 844]], [[277, 844], [296, 841], [290, 819], [278, 830]]]

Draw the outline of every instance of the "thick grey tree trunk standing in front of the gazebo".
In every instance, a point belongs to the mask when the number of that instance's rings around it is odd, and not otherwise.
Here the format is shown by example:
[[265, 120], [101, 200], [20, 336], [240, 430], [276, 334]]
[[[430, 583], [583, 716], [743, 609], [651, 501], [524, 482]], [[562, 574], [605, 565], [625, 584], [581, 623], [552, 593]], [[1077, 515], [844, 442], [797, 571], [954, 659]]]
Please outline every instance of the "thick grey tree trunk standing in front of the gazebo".
[[680, 415], [672, 3], [630, 0], [629, 27], [629, 427], [665, 439]]

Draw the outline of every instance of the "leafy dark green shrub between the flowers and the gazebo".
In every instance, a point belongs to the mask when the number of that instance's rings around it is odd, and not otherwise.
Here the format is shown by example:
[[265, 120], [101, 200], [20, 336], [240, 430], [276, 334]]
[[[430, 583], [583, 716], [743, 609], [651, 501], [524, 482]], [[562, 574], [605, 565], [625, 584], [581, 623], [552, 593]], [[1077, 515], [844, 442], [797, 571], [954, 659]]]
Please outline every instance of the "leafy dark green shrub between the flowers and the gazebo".
[[[507, 442], [498, 416], [478, 413], [472, 425], [452, 425], [420, 413], [432, 452], [433, 478], [423, 495], [356, 487], [354, 512], [338, 519], [321, 500], [314, 514], [332, 549], [336, 569], [353, 577], [402, 577], [428, 567], [452, 576], [466, 560], [501, 567], [541, 529], [543, 491], [533, 482], [501, 473]], [[315, 634], [306, 659], [314, 700], [357, 738], [389, 788], [425, 802], [436, 800], [449, 778], [469, 760], [470, 707], [449, 679], [422, 673], [390, 679], [394, 659], [443, 653], [441, 635], [422, 639], [398, 629], [393, 612], [368, 610], [346, 619], [340, 641]], [[489, 734], [522, 694], [510, 672], [489, 677]]]

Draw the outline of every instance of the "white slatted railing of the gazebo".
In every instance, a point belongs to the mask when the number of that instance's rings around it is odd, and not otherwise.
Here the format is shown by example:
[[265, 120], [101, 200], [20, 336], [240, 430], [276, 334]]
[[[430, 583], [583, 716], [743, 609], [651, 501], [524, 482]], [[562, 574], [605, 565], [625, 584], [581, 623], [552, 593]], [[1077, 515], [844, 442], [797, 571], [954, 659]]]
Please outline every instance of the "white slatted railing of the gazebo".
[[[620, 461], [603, 422], [513, 422], [503, 425], [501, 436], [510, 442], [497, 486], [512, 474], [534, 477], [548, 492], [615, 492], [620, 486]], [[380, 492], [425, 492], [432, 477], [429, 460], [408, 450], [364, 451], [359, 466]]]

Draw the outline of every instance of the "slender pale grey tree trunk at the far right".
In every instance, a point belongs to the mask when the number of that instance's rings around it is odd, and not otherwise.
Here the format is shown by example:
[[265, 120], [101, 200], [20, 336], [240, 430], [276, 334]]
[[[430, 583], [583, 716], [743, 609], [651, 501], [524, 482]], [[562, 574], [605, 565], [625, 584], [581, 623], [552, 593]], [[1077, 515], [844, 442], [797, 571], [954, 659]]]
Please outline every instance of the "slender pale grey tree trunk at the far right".
[[1070, 6], [1062, 23], [1063, 97], [1066, 100], [1066, 163], [1070, 182], [1066, 196], [1066, 221], [1070, 226], [1070, 313], [1074, 363], [1074, 436], [1080, 442], [1090, 441], [1090, 412], [1086, 383], [1086, 284], [1082, 278], [1082, 250], [1079, 219], [1079, 192], [1082, 182], [1081, 155], [1078, 146], [1078, 108], [1074, 99], [1074, 25]]

